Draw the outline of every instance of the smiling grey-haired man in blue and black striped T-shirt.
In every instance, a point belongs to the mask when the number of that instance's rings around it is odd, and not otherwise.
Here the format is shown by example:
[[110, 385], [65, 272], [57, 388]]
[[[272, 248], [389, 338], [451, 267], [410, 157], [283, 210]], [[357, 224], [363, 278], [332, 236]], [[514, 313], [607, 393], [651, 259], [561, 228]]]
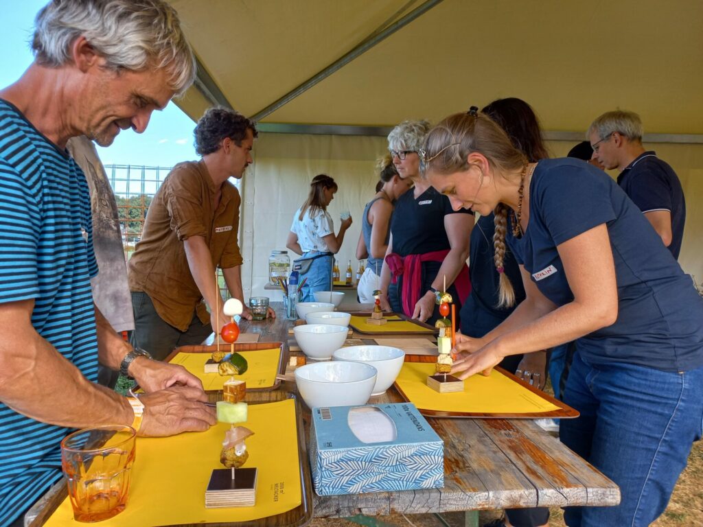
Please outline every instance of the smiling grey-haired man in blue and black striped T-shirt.
[[[2, 527], [59, 479], [69, 429], [168, 436], [216, 421], [198, 379], [132, 349], [94, 306], [89, 191], [65, 150], [81, 134], [107, 146], [122, 129], [143, 131], [193, 82], [176, 12], [162, 0], [53, 0], [32, 48], [32, 65], [0, 90]], [[147, 393], [98, 386], [98, 358]]]

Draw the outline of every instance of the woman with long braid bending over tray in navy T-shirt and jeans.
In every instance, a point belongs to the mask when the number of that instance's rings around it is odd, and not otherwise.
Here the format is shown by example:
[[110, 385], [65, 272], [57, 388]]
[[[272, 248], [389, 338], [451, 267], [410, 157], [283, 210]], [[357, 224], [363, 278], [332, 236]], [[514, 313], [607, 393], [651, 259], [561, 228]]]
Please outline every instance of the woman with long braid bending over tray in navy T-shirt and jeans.
[[[427, 177], [453, 207], [505, 214], [526, 298], [480, 339], [458, 337], [452, 373], [576, 340], [560, 438], [618, 484], [617, 507], [569, 507], [569, 526], [646, 526], [664, 512], [703, 427], [703, 299], [650, 223], [604, 172], [529, 163], [477, 112], [427, 136]], [[501, 219], [501, 221], [503, 221]], [[498, 229], [496, 229], [498, 231]], [[500, 273], [501, 270], [498, 269]], [[501, 273], [501, 297], [514, 289]]]

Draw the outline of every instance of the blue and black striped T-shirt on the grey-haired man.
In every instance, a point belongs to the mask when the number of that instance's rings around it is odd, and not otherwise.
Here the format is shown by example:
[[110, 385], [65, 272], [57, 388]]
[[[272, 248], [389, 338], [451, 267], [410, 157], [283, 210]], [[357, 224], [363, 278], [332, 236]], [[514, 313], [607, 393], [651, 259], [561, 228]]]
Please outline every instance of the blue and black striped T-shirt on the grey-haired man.
[[[34, 329], [95, 382], [98, 342], [90, 278], [98, 266], [88, 185], [67, 152], [4, 100], [0, 247], [0, 303], [34, 299]], [[0, 402], [0, 526], [59, 479], [60, 441], [69, 431]]]

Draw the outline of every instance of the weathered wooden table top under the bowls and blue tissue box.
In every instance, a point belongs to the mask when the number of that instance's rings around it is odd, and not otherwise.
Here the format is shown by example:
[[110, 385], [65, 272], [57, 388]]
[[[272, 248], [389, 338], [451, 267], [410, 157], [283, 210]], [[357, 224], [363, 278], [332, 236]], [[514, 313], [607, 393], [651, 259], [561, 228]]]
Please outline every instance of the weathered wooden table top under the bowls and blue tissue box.
[[[259, 342], [281, 341], [287, 346], [288, 328], [293, 322], [285, 319], [282, 303], [272, 306], [276, 309], [276, 319], [243, 321], [241, 330], [259, 333]], [[347, 304], [340, 306], [340, 311], [344, 308], [363, 311], [370, 306]], [[368, 335], [354, 334], [354, 338], [368, 339]], [[295, 391], [295, 385], [287, 382], [282, 389]], [[399, 403], [403, 399], [391, 387], [369, 402]], [[302, 406], [309, 437], [310, 412], [304, 403]], [[607, 506], [620, 501], [620, 490], [615, 483], [530, 419], [429, 418], [427, 421], [444, 440], [444, 488], [314, 495], [314, 515], [416, 514], [536, 505]]]

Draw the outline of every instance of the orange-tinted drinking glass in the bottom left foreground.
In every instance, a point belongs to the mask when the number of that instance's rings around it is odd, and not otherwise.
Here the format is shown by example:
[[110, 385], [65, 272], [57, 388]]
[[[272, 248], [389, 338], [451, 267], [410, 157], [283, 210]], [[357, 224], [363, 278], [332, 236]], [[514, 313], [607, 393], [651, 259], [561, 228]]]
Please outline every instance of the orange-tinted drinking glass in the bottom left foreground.
[[61, 441], [61, 468], [76, 521], [102, 521], [127, 507], [136, 432], [105, 426], [79, 430]]

